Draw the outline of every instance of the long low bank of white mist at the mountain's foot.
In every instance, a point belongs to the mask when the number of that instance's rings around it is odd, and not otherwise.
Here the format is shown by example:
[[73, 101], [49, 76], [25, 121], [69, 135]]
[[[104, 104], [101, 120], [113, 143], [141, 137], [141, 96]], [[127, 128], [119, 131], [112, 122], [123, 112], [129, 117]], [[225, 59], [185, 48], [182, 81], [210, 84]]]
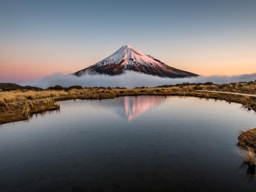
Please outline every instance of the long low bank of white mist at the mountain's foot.
[[65, 74], [53, 74], [44, 77], [35, 82], [22, 83], [31, 86], [38, 86], [47, 88], [60, 84], [61, 86], [81, 85], [83, 87], [93, 86], [111, 86], [111, 87], [126, 87], [134, 88], [138, 86], [159, 86], [164, 84], [178, 84], [178, 83], [234, 83], [241, 81], [255, 81], [256, 74], [244, 74], [239, 76], [199, 76], [199, 77], [186, 77], [186, 78], [163, 78], [157, 76], [150, 76], [147, 74], [140, 74], [138, 72], [126, 72], [120, 76], [108, 75], [89, 75], [86, 74], [81, 77]]

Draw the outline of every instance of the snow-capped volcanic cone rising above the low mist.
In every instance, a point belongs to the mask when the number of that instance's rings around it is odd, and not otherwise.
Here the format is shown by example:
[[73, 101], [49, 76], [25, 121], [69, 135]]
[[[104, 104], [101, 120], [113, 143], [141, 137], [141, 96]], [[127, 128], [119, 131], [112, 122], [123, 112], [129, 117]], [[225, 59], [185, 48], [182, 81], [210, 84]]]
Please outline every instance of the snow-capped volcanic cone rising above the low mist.
[[153, 56], [137, 51], [131, 45], [124, 45], [118, 51], [104, 60], [74, 73], [76, 76], [83, 74], [108, 74], [115, 76], [125, 71], [135, 71], [160, 77], [195, 77], [191, 72], [170, 67]]

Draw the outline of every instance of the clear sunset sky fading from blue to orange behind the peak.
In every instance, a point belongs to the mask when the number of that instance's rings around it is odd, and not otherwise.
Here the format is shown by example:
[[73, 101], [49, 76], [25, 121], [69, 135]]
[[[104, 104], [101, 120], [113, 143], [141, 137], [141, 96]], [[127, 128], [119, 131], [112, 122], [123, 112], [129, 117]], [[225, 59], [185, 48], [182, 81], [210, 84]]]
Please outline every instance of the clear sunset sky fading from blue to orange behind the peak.
[[0, 0], [0, 81], [68, 74], [132, 45], [202, 76], [256, 72], [256, 1]]

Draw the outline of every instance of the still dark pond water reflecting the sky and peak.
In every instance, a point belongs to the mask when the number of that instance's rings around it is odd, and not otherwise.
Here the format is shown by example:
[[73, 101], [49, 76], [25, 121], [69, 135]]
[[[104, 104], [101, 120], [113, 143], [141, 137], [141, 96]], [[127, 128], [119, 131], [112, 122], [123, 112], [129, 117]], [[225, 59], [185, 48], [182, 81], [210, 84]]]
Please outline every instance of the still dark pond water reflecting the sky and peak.
[[0, 191], [255, 191], [240, 104], [180, 97], [61, 102], [0, 127]]

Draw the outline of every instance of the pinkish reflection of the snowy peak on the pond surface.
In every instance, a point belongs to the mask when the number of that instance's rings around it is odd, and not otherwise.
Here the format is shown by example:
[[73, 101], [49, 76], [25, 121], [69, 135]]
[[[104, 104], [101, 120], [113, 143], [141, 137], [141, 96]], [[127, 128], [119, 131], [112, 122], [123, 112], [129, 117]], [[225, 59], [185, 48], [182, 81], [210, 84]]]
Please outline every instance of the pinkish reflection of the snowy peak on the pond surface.
[[155, 108], [161, 102], [163, 102], [164, 97], [124, 97], [124, 111], [128, 120], [131, 121], [136, 116], [147, 111], [148, 109]]

